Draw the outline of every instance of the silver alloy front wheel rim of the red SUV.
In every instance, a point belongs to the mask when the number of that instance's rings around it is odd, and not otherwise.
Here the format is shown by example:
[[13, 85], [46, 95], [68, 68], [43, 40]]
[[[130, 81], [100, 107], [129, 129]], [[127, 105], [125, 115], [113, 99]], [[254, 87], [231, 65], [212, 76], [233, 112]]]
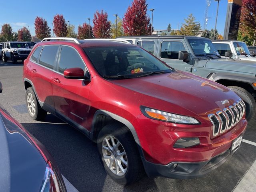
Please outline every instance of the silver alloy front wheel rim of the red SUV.
[[106, 136], [102, 142], [102, 154], [108, 168], [116, 175], [122, 176], [128, 168], [126, 152], [114, 136]]

